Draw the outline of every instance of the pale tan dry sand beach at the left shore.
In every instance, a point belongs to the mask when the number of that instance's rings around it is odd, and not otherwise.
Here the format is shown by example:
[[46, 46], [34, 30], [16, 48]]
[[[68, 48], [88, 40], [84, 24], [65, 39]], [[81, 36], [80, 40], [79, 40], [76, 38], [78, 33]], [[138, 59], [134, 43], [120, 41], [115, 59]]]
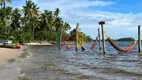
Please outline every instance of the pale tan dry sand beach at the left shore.
[[20, 56], [21, 49], [0, 48], [0, 64], [8, 59]]

